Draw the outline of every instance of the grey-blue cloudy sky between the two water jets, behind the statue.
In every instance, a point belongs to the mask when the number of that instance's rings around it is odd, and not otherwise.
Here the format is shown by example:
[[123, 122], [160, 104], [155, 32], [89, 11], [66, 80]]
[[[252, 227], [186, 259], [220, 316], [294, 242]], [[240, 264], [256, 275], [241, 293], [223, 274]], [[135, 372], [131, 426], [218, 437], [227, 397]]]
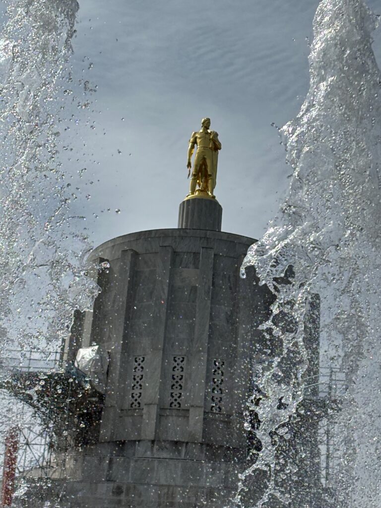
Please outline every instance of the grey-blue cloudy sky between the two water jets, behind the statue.
[[[94, 245], [177, 226], [188, 140], [204, 116], [223, 145], [215, 189], [223, 230], [264, 233], [291, 173], [271, 124], [293, 118], [307, 92], [318, 3], [79, 0], [73, 77], [98, 91], [82, 124], [85, 155], [67, 170], [87, 168], [74, 207]], [[377, 10], [376, 0], [368, 5]], [[374, 39], [380, 60], [379, 30]]]

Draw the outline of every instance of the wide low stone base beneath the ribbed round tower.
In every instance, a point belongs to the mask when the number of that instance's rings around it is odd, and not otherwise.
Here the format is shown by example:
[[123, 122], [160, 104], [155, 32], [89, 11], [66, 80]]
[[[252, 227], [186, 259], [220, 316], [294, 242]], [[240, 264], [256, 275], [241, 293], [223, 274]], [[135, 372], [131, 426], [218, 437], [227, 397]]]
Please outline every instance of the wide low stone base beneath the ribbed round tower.
[[[119, 453], [128, 452], [124, 448], [120, 443]], [[243, 468], [242, 462], [88, 455], [102, 451], [93, 447], [68, 456], [65, 466], [58, 460], [53, 478], [24, 478], [27, 490], [15, 506], [45, 508], [49, 501], [60, 508], [220, 508], [234, 497]], [[68, 472], [70, 478], [62, 476]]]

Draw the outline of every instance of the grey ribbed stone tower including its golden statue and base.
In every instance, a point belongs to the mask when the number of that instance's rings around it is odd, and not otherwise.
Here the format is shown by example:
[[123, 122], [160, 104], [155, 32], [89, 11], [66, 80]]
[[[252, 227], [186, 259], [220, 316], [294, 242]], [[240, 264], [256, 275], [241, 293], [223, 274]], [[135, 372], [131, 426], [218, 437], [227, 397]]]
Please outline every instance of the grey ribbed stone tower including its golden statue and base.
[[254, 268], [239, 276], [256, 240], [221, 232], [221, 145], [208, 120], [190, 139], [189, 170], [200, 145], [178, 227], [126, 234], [91, 254], [101, 292], [93, 312], [76, 312], [63, 360], [80, 371], [81, 355], [96, 351], [104, 386], [90, 367], [92, 391], [72, 403], [44, 494], [59, 493], [60, 506], [220, 508], [247, 467], [243, 412], [258, 358], [274, 354], [258, 331], [274, 297]]

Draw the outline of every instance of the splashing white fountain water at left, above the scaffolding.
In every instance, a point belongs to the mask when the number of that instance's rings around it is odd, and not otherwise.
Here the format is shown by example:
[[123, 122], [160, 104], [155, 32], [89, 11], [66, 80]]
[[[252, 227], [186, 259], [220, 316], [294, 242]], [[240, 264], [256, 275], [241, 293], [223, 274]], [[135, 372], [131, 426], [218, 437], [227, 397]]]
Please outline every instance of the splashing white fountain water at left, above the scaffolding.
[[10, 0], [0, 41], [2, 346], [59, 347], [97, 288], [59, 153], [76, 0]]

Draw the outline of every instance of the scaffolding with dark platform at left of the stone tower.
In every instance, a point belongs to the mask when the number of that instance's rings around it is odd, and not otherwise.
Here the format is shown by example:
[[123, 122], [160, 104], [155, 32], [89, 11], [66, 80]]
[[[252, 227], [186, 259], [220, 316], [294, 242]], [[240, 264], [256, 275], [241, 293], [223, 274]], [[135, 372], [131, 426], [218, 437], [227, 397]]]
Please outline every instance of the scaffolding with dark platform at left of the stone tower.
[[17, 483], [59, 476], [68, 451], [89, 442], [85, 432], [92, 416], [100, 417], [104, 396], [60, 351], [9, 350], [0, 357], [3, 413], [7, 403], [18, 411]]

